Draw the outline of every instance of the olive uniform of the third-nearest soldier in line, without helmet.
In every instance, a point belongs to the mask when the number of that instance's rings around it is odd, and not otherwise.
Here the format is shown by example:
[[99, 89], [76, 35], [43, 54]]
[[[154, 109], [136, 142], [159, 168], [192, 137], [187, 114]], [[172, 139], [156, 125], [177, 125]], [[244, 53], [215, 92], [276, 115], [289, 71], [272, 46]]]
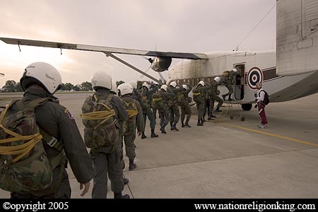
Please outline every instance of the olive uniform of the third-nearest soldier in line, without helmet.
[[143, 123], [143, 110], [141, 109], [139, 102], [131, 98], [131, 95], [124, 95], [124, 97], [122, 97], [122, 100], [126, 102], [126, 104], [133, 102], [138, 110], [138, 114], [129, 117], [129, 119], [126, 121], [126, 131], [123, 138], [125, 143], [126, 156], [129, 158], [129, 163], [134, 163], [134, 158], [136, 157], [136, 146], [134, 144], [134, 141], [136, 139], [136, 128], [139, 132], [145, 131], [145, 125]]

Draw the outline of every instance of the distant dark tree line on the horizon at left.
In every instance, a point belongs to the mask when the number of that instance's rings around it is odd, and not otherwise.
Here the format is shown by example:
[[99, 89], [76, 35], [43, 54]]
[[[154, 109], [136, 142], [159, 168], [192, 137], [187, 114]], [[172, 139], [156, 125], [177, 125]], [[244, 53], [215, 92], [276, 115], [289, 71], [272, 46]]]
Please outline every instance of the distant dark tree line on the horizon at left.
[[[62, 83], [61, 88], [59, 90], [62, 91], [89, 91], [93, 90], [92, 83], [86, 81], [81, 84], [73, 85], [72, 83]], [[1, 92], [15, 93], [15, 92], [23, 92], [23, 89], [20, 85], [20, 82], [16, 82], [13, 80], [6, 81], [4, 86], [1, 88]]]

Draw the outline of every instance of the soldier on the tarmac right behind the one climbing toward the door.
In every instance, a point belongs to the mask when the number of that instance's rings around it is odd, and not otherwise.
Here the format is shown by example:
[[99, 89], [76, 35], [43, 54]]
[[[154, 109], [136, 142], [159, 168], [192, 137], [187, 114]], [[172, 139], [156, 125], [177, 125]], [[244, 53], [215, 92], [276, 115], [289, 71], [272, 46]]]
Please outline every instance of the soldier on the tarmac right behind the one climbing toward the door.
[[193, 100], [196, 102], [196, 109], [198, 110], [198, 124], [197, 126], [203, 126], [203, 114], [204, 114], [204, 92], [211, 89], [211, 86], [205, 86], [204, 81], [200, 81], [193, 92]]

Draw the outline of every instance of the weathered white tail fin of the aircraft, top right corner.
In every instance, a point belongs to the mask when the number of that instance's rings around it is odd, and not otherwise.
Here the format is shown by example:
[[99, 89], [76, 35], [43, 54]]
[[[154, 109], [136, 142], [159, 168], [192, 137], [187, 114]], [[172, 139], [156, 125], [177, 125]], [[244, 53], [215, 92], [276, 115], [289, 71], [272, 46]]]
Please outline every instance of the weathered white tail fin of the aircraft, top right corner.
[[318, 1], [278, 0], [276, 73], [318, 71]]

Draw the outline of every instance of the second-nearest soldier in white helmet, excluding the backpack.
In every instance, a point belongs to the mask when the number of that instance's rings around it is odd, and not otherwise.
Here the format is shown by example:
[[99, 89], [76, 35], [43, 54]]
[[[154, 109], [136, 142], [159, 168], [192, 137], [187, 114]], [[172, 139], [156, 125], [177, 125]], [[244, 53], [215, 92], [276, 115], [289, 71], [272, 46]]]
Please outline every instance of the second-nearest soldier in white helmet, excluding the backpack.
[[[129, 119], [128, 113], [125, 110], [124, 102], [117, 95], [110, 93], [112, 89], [112, 77], [104, 72], [97, 71], [93, 74], [91, 83], [95, 90], [94, 95], [98, 100], [109, 100], [114, 110], [114, 123], [122, 121], [126, 122]], [[112, 146], [101, 146], [99, 148], [90, 148], [90, 158], [93, 159], [95, 176], [92, 198], [106, 199], [107, 198], [107, 172], [110, 177], [111, 189], [114, 192], [114, 199], [129, 199], [129, 195], [122, 195], [124, 190], [124, 181], [122, 178], [122, 147], [119, 141], [119, 124], [115, 124], [117, 135], [112, 135], [114, 141]], [[107, 134], [107, 133], [106, 133]], [[111, 135], [110, 135], [111, 136]]]

